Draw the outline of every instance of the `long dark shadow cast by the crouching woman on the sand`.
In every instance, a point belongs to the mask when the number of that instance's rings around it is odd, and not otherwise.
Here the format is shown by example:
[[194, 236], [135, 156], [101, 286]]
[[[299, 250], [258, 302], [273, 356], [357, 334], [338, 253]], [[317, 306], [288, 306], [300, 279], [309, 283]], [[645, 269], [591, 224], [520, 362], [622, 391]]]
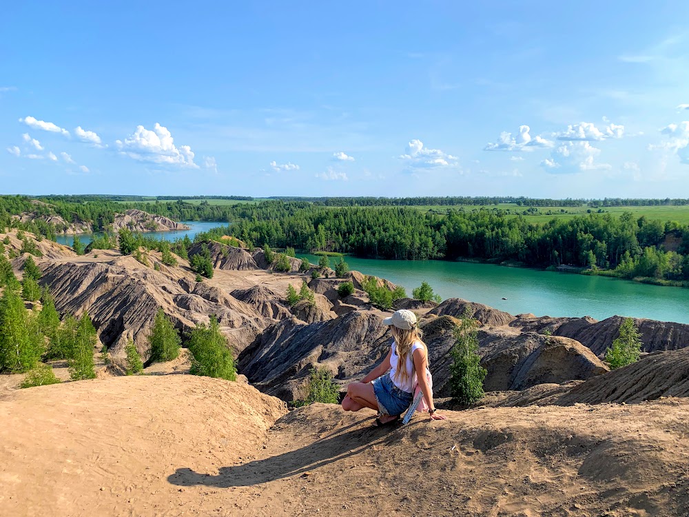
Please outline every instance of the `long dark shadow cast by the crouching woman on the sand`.
[[331, 436], [285, 454], [271, 456], [265, 460], [250, 461], [234, 467], [220, 467], [217, 476], [181, 468], [168, 476], [167, 480], [172, 485], [182, 487], [193, 485], [220, 488], [247, 487], [303, 474], [311, 469], [318, 469], [334, 461], [358, 454], [376, 442], [396, 440], [395, 435], [389, 433], [390, 430], [395, 429], [395, 426], [382, 429], [371, 426], [347, 431], [358, 425], [360, 421], [338, 429]]

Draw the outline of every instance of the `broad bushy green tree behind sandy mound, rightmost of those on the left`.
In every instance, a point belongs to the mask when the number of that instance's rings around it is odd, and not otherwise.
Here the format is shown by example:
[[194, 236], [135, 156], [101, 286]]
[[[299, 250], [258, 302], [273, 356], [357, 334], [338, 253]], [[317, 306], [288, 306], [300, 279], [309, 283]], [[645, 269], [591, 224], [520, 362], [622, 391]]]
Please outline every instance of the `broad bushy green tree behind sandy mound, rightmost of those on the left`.
[[215, 316], [211, 316], [210, 325], [196, 325], [187, 345], [192, 354], [190, 374], [236, 380], [234, 358]]

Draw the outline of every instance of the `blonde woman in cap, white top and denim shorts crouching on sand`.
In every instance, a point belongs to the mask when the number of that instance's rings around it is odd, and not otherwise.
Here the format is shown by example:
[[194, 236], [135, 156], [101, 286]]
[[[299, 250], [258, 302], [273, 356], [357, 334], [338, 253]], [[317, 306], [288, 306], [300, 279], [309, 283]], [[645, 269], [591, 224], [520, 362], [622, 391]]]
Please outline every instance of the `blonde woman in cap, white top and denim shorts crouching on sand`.
[[390, 326], [393, 343], [387, 356], [360, 383], [347, 386], [342, 401], [345, 411], [359, 411], [364, 407], [378, 412], [376, 425], [387, 425], [407, 411], [418, 381], [429, 407], [431, 420], [444, 420], [433, 405], [433, 393], [426, 380], [428, 349], [421, 341], [416, 315], [409, 310], [398, 310], [383, 320]]

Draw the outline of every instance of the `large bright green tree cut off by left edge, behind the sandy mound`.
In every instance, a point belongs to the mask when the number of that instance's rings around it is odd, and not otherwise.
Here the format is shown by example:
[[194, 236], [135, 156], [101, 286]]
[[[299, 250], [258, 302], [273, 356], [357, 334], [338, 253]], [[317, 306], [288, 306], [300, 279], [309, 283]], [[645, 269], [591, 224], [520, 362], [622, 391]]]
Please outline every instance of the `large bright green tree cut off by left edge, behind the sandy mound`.
[[0, 298], [0, 370], [16, 374], [36, 367], [43, 350], [31, 317], [17, 293], [5, 289]]

